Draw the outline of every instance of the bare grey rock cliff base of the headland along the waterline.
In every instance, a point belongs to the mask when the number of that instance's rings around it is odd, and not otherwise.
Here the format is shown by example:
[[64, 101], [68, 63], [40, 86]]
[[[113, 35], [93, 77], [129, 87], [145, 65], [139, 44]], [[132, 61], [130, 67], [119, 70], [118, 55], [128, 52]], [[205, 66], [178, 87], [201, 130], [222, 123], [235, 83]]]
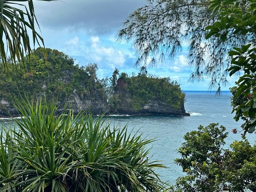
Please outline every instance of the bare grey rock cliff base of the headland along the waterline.
[[[71, 106], [71, 109], [77, 114], [80, 110], [89, 111], [93, 115], [136, 115], [136, 116], [146, 116], [146, 115], [171, 115], [171, 116], [190, 116], [184, 109], [184, 105], [180, 110], [174, 110], [167, 103], [161, 101], [149, 101], [146, 105], [142, 107], [141, 110], [134, 110], [129, 103], [123, 101], [118, 110], [114, 110], [111, 106], [103, 100], [97, 100], [93, 98], [86, 98], [81, 100], [76, 94], [66, 102]], [[65, 110], [64, 105], [59, 103], [58, 112]], [[15, 107], [8, 101], [2, 99], [0, 100], [0, 118], [15, 118], [19, 117], [19, 113]]]

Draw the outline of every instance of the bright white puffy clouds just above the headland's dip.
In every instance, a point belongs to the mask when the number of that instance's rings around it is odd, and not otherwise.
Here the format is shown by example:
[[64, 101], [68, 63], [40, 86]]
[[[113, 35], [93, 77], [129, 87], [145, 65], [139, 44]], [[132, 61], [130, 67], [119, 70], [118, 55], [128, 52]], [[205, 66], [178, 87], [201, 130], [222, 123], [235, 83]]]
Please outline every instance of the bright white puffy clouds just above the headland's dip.
[[114, 43], [102, 42], [98, 36], [84, 39], [77, 36], [71, 37], [64, 41], [60, 51], [75, 57], [80, 65], [96, 63], [99, 69], [108, 68], [112, 72], [115, 67], [126, 68], [126, 58], [128, 60], [130, 58], [123, 50], [115, 47]]

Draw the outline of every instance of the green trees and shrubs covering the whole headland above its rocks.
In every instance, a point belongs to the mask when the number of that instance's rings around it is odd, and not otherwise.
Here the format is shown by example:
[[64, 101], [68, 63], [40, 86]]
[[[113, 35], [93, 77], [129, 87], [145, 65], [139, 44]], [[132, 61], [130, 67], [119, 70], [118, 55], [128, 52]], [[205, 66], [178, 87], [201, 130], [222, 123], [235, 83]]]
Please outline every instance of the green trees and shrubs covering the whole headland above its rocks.
[[115, 69], [111, 78], [99, 80], [97, 64], [79, 67], [68, 55], [50, 48], [36, 49], [21, 68], [11, 67], [11, 62], [9, 65], [9, 73], [0, 76], [0, 99], [9, 103], [15, 103], [18, 96], [29, 100], [45, 97], [48, 101], [58, 98], [64, 105], [77, 95], [81, 100], [109, 101], [115, 112], [125, 97], [120, 94], [123, 89], [129, 93], [135, 110], [140, 110], [151, 100], [167, 103], [175, 110], [180, 110], [184, 104], [185, 95], [180, 85], [169, 78], [145, 73], [128, 77], [126, 73], [118, 75]]

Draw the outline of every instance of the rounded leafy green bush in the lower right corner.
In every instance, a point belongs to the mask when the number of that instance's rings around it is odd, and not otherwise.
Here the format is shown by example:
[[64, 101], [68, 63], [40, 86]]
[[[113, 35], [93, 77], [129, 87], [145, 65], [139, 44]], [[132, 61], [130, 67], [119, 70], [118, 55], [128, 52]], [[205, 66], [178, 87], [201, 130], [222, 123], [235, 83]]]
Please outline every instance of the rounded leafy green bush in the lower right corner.
[[177, 192], [256, 191], [256, 145], [247, 140], [234, 141], [223, 149], [228, 133], [225, 127], [199, 126], [184, 136], [175, 160], [186, 176], [177, 179]]

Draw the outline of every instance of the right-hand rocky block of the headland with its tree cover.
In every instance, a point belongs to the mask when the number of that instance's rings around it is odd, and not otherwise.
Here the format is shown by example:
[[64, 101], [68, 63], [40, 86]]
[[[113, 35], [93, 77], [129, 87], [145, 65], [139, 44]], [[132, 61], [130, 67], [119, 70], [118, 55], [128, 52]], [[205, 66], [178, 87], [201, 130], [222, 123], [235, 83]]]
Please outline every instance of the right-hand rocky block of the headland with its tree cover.
[[169, 78], [147, 75], [145, 69], [137, 76], [121, 73], [110, 105], [117, 113], [149, 115], [188, 115], [184, 109], [185, 94], [180, 84]]

